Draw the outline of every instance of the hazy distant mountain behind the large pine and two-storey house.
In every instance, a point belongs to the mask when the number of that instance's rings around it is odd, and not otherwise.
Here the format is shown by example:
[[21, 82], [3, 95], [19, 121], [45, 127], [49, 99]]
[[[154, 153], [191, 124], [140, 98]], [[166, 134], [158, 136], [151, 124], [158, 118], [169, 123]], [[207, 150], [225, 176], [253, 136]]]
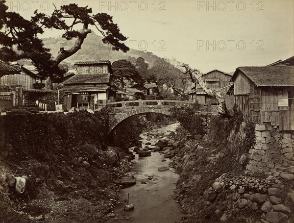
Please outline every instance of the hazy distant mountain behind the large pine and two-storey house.
[[[59, 48], [64, 47], [65, 50], [69, 49], [73, 46], [75, 40], [65, 40], [64, 38], [45, 38], [42, 39], [45, 47], [50, 48], [53, 56], [56, 56]], [[120, 51], [114, 51], [111, 48], [111, 45], [103, 44], [102, 37], [89, 33], [87, 38], [80, 50], [78, 50], [75, 54], [65, 59], [62, 63], [66, 63], [68, 65], [73, 65], [77, 61], [87, 61], [87, 60], [110, 60], [111, 62], [121, 59], [126, 59], [132, 63], [136, 61], [136, 59], [142, 56], [145, 59], [145, 62], [148, 63], [149, 68], [153, 66], [155, 60], [158, 56], [154, 55], [151, 52], [145, 52], [140, 50], [132, 50], [130, 49], [128, 52], [124, 53]]]

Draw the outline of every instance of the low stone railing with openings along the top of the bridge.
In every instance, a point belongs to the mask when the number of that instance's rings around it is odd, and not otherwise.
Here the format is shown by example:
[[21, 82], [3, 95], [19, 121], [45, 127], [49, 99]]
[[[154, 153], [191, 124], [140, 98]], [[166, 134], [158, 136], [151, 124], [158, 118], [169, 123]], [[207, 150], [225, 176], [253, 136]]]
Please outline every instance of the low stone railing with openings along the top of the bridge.
[[103, 104], [105, 107], [113, 109], [128, 109], [135, 107], [147, 108], [181, 108], [181, 107], [194, 107], [199, 111], [211, 111], [211, 103], [199, 104], [193, 101], [183, 100], [129, 100], [129, 101], [116, 101]]

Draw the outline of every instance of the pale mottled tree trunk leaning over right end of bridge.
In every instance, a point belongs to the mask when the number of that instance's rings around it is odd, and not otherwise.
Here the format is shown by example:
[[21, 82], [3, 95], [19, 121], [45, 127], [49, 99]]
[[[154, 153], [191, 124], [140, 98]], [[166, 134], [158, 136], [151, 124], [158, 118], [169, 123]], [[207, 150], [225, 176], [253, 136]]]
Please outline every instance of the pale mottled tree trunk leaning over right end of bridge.
[[195, 84], [198, 83], [200, 88], [207, 95], [210, 95], [218, 100], [219, 114], [221, 114], [224, 117], [231, 118], [232, 114], [226, 107], [224, 96], [220, 92], [216, 92], [215, 90], [211, 90], [206, 86], [204, 80], [202, 79], [203, 74], [200, 73], [198, 70], [192, 70], [188, 64], [182, 64], [181, 67], [184, 67], [186, 69], [186, 72], [184, 72], [184, 74], [190, 74], [190, 78], [191, 78], [192, 82], [194, 82]]

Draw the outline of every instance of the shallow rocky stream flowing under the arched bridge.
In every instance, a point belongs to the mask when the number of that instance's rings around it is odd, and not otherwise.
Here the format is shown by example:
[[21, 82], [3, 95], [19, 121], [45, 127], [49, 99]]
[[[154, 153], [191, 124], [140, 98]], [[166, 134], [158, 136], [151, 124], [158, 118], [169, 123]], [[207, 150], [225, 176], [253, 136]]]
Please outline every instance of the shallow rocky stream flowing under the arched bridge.
[[[169, 134], [179, 126], [178, 123], [169, 124], [161, 128], [143, 132], [140, 135], [142, 148], [146, 148], [146, 143], [155, 143], [159, 139], [173, 141]], [[149, 135], [149, 136], [148, 136]], [[152, 136], [152, 137], [151, 137]], [[149, 145], [150, 146], [150, 145]], [[134, 147], [129, 148], [133, 151]], [[175, 183], [179, 178], [177, 173], [170, 168], [166, 171], [158, 171], [159, 167], [169, 167], [169, 158], [164, 158], [161, 152], [151, 152], [151, 156], [139, 158], [135, 154], [134, 165], [128, 175], [133, 175], [137, 182], [133, 186], [126, 187], [120, 191], [121, 203], [113, 211], [113, 215], [107, 223], [173, 223], [181, 220], [184, 213], [181, 206], [172, 199]], [[166, 160], [166, 161], [164, 161]], [[125, 211], [123, 207], [129, 194], [129, 203], [135, 207], [134, 210]]]

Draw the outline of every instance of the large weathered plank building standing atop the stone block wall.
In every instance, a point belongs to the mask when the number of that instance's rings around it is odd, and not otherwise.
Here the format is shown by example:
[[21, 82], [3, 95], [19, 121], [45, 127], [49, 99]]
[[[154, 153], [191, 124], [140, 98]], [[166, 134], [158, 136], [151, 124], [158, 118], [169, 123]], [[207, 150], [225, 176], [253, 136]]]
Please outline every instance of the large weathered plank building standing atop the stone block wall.
[[294, 66], [238, 67], [231, 81], [245, 121], [294, 130]]

